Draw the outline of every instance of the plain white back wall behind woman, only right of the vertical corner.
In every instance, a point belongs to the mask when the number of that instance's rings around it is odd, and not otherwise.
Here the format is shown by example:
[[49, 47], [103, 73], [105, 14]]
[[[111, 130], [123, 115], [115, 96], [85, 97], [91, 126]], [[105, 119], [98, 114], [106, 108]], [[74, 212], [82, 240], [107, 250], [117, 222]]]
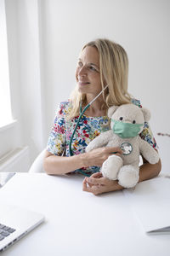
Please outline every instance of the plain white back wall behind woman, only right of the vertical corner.
[[74, 87], [77, 55], [94, 38], [111, 38], [127, 50], [129, 92], [150, 108], [152, 129], [168, 132], [170, 120], [170, 2], [140, 0], [42, 1], [46, 127], [58, 102]]

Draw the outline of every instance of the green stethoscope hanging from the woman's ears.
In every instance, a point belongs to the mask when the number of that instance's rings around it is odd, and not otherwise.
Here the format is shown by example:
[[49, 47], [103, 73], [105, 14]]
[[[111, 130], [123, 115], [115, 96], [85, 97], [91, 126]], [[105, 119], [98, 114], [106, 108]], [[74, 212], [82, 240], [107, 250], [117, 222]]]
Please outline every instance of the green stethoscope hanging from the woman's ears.
[[[70, 155], [73, 155], [72, 148], [71, 148], [71, 144], [72, 144], [72, 140], [73, 140], [73, 137], [74, 137], [74, 135], [75, 135], [75, 132], [77, 131], [77, 126], [79, 125], [80, 120], [82, 119], [82, 114], [92, 105], [92, 103], [95, 102], [95, 100], [103, 93], [103, 91], [104, 91], [107, 87], [108, 87], [108, 85], [105, 85], [105, 88], [104, 88], [103, 90], [101, 90], [101, 91], [99, 92], [99, 94], [98, 94], [97, 96], [95, 96], [94, 99], [93, 99], [91, 102], [89, 102], [88, 105], [87, 105], [85, 108], [83, 108], [83, 110], [82, 110], [82, 102], [80, 103], [80, 115], [79, 115], [79, 118], [78, 118], [78, 120], [77, 120], [77, 125], [76, 125], [74, 131], [72, 132], [71, 140], [70, 140], [70, 143], [69, 143], [69, 152], [70, 152]], [[78, 171], [79, 171], [79, 172], [82, 172], [82, 170], [80, 170], [80, 169], [79, 169]], [[84, 174], [84, 175], [86, 175], [86, 176], [88, 175], [86, 172], [82, 172], [82, 174]]]

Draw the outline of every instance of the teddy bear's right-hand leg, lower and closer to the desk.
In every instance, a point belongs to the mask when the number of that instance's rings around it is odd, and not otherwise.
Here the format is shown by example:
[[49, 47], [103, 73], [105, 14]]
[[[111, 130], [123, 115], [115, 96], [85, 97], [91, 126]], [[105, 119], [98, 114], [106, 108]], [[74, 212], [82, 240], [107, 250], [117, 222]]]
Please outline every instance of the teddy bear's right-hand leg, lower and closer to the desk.
[[122, 166], [118, 180], [122, 187], [133, 188], [139, 181], [139, 166]]

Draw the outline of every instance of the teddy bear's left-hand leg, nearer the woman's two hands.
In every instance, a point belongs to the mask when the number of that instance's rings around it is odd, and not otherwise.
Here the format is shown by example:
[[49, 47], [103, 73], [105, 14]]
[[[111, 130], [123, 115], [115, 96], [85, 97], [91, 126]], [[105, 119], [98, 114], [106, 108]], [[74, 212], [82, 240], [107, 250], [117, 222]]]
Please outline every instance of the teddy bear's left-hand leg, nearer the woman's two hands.
[[108, 177], [110, 179], [116, 180], [117, 173], [119, 172], [121, 167], [122, 158], [113, 154], [109, 156], [107, 160], [105, 160], [100, 172], [102, 172], [103, 177]]

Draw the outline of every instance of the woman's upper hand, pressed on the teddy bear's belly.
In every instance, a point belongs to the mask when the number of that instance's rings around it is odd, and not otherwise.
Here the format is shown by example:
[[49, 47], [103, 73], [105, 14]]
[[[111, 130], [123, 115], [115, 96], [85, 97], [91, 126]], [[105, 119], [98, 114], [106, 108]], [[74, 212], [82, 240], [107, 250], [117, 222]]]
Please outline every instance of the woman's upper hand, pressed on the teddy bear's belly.
[[95, 148], [90, 152], [80, 154], [83, 161], [83, 167], [102, 166], [105, 160], [112, 154], [120, 156], [122, 149], [118, 147]]

